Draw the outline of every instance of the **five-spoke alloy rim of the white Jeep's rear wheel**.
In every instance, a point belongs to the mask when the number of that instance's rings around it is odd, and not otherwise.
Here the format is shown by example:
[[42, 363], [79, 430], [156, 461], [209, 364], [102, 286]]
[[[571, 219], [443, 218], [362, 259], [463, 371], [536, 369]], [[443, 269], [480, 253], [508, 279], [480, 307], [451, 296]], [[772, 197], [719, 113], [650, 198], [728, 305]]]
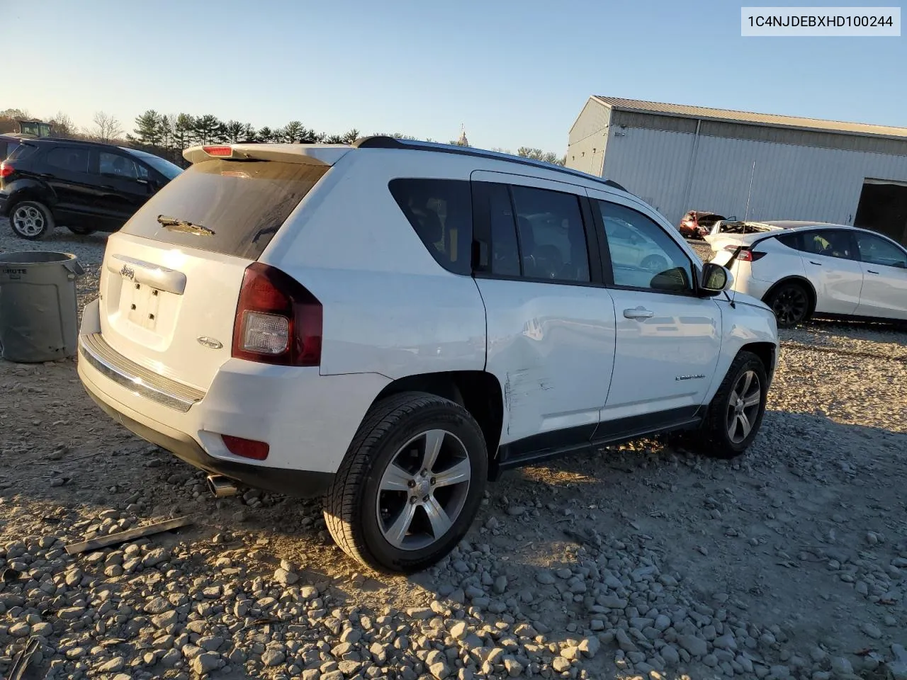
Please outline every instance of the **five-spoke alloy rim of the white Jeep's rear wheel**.
[[397, 549], [418, 550], [444, 537], [463, 511], [472, 466], [463, 442], [429, 430], [406, 442], [378, 486], [378, 528]]

